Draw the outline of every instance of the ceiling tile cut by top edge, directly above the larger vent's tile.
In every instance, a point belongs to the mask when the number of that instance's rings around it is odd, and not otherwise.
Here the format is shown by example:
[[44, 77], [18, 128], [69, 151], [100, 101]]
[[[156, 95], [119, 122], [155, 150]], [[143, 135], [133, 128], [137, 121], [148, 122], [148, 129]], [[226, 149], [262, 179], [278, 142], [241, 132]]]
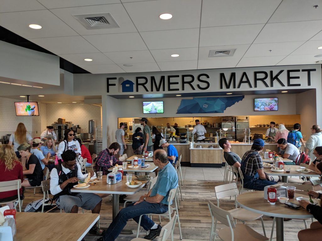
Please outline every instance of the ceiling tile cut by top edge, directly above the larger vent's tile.
[[[106, 0], [38, 0], [41, 4], [43, 4], [46, 8], [63, 8], [63, 7], [78, 7], [78, 6], [88, 6], [88, 5], [99, 5], [99, 4], [107, 4]], [[120, 3], [120, 0], [109, 0], [109, 4], [112, 3]]]

